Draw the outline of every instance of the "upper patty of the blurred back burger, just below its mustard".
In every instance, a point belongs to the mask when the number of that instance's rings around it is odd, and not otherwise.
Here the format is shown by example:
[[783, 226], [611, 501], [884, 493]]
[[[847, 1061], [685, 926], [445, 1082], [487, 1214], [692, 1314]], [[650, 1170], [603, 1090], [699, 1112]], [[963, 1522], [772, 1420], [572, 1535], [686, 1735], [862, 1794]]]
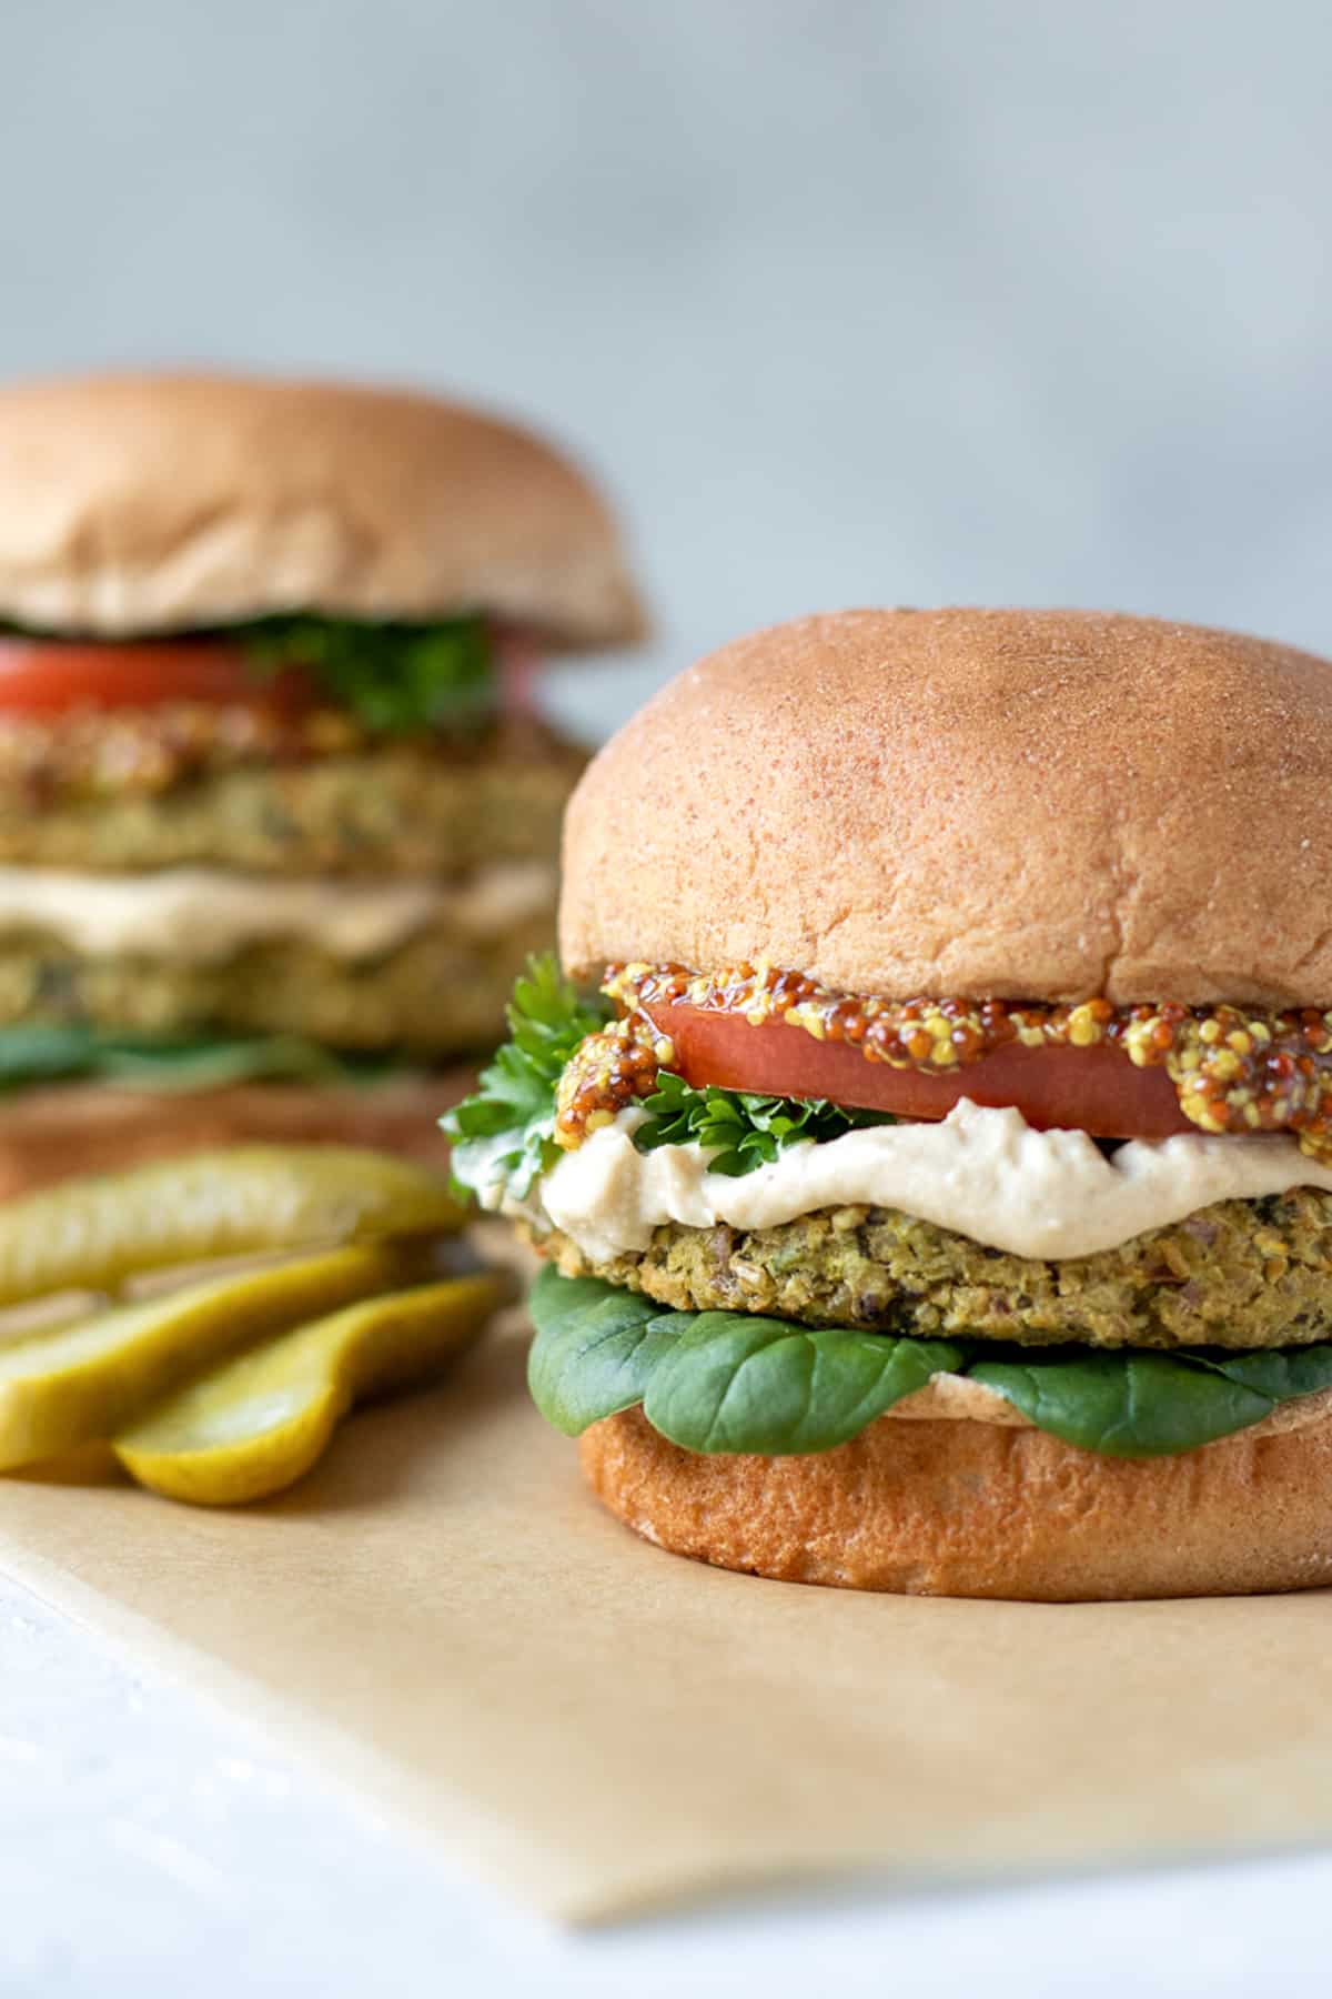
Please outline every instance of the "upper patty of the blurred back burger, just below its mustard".
[[[555, 856], [565, 800], [585, 764], [551, 730], [509, 722], [465, 746], [357, 744], [276, 762], [212, 754], [184, 774], [174, 740], [154, 738], [142, 716], [122, 728], [102, 738], [104, 762], [82, 790], [52, 790], [40, 764], [24, 778], [6, 776], [0, 758], [0, 864], [463, 874]], [[162, 782], [118, 782], [118, 756], [140, 774], [144, 758], [162, 758]]]

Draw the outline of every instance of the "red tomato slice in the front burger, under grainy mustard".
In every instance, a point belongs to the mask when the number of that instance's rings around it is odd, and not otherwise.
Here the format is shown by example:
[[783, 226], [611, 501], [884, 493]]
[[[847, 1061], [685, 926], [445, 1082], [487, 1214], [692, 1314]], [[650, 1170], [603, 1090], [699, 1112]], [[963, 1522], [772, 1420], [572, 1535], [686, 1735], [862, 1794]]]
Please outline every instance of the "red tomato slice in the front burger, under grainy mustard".
[[675, 1043], [687, 1083], [753, 1089], [775, 1097], [827, 1097], [899, 1117], [947, 1117], [959, 1097], [1014, 1105], [1036, 1131], [1092, 1137], [1172, 1137], [1196, 1131], [1164, 1069], [1136, 1069], [1114, 1047], [999, 1047], [953, 1075], [923, 1075], [869, 1061], [845, 1041], [815, 1041], [803, 1027], [653, 1001], [649, 1017]]

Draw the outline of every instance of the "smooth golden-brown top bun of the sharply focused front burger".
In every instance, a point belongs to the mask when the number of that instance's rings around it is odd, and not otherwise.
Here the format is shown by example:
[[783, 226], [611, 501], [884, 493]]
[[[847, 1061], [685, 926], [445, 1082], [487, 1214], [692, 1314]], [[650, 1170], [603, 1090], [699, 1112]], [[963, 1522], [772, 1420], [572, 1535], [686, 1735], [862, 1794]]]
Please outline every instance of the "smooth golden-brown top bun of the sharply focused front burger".
[[1332, 1003], [1332, 666], [1092, 612], [725, 646], [583, 776], [561, 948], [889, 998]]

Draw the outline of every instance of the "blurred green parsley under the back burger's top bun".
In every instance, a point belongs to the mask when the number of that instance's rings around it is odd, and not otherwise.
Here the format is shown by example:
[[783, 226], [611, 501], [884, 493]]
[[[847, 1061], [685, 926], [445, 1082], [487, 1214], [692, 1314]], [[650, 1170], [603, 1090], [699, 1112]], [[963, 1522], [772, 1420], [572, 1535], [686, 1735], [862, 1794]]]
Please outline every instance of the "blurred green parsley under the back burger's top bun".
[[298, 612], [232, 626], [226, 636], [240, 642], [258, 678], [298, 668], [375, 734], [465, 732], [495, 704], [483, 618], [361, 624]]

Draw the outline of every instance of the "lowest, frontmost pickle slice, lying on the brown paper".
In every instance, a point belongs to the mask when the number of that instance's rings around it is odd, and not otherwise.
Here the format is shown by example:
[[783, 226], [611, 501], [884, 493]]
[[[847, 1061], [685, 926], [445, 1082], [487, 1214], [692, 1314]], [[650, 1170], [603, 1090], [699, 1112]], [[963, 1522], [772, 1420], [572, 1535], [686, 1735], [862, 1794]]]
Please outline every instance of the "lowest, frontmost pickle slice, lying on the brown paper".
[[353, 1401], [435, 1373], [509, 1295], [503, 1277], [481, 1275], [345, 1305], [158, 1403], [120, 1431], [116, 1455], [168, 1499], [266, 1499], [310, 1471]]

